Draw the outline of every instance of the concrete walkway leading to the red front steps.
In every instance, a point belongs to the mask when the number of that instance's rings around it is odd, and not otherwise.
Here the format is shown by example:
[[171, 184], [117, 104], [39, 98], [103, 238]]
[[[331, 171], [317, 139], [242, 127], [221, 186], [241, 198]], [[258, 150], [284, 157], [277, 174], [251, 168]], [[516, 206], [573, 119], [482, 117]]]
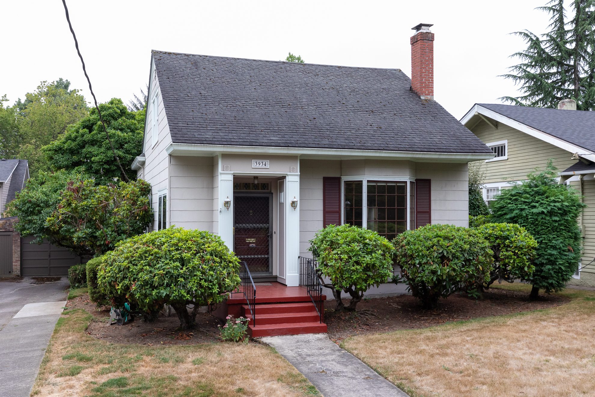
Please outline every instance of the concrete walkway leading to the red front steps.
[[267, 336], [261, 341], [277, 349], [324, 397], [407, 397], [325, 333]]

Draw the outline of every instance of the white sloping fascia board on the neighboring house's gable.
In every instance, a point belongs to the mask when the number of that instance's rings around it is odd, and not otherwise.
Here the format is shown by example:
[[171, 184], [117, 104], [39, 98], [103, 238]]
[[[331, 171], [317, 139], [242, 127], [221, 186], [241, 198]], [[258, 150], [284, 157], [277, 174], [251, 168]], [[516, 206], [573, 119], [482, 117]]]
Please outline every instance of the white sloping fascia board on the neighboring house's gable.
[[[558, 146], [558, 148], [563, 149], [567, 152], [578, 153], [580, 157], [584, 157], [587, 160], [595, 162], [595, 153], [593, 153], [593, 151], [581, 148], [581, 146], [574, 145], [573, 143], [560, 139], [559, 137], [550, 135], [533, 127], [527, 126], [527, 124], [523, 124], [520, 121], [516, 121], [513, 118], [506, 117], [505, 115], [502, 115], [488, 108], [484, 108], [483, 106], [477, 104], [474, 105], [472, 110], [465, 114], [465, 116], [461, 119], [461, 123], [465, 124], [466, 121], [469, 121], [469, 119], [471, 119], [475, 112], [483, 114], [489, 118], [493, 118], [498, 123], [506, 124], [507, 126], [513, 127], [521, 132], [524, 132], [527, 135], [531, 135], [533, 137], [536, 137], [537, 139], [543, 140], [544, 142], [550, 143], [554, 146]], [[471, 117], [468, 117], [470, 113]]]

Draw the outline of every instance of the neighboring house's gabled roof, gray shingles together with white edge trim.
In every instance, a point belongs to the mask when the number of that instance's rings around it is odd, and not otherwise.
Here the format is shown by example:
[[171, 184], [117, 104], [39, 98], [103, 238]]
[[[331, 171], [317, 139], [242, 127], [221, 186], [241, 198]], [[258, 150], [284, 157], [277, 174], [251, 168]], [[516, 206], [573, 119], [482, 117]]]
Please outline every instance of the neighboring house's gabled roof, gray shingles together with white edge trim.
[[595, 112], [475, 104], [461, 123], [468, 124], [476, 112], [595, 161]]

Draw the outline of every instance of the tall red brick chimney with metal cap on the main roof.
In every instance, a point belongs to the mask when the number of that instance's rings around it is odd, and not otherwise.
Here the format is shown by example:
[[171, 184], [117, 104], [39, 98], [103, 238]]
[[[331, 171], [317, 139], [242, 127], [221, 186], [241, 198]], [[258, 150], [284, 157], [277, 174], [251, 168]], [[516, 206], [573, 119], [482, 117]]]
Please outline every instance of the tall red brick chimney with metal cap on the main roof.
[[411, 37], [411, 90], [421, 99], [434, 99], [434, 33], [420, 23]]

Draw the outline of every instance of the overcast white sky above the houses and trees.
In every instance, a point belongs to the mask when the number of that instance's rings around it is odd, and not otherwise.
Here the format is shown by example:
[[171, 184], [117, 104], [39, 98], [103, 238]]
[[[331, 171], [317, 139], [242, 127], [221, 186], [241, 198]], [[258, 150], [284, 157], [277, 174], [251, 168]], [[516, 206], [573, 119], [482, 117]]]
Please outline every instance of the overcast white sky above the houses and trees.
[[[67, 0], [99, 102], [145, 87], [151, 49], [318, 64], [400, 68], [411, 76], [411, 27], [433, 23], [438, 102], [456, 118], [516, 95], [497, 77], [525, 48], [508, 33], [543, 33], [547, 0], [82, 1]], [[60, 0], [2, 4], [0, 95], [24, 99], [42, 80], [70, 80], [92, 98]]]

